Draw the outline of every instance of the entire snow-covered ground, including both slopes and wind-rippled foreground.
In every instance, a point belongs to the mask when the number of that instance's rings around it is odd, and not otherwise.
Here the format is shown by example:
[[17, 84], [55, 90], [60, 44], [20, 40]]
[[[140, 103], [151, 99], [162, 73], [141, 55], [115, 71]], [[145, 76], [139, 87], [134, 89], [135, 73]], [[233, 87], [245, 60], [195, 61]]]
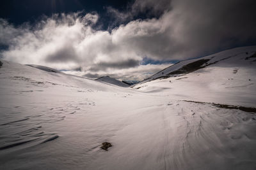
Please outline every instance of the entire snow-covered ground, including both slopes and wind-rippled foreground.
[[0, 169], [256, 169], [255, 52], [132, 88], [1, 60]]

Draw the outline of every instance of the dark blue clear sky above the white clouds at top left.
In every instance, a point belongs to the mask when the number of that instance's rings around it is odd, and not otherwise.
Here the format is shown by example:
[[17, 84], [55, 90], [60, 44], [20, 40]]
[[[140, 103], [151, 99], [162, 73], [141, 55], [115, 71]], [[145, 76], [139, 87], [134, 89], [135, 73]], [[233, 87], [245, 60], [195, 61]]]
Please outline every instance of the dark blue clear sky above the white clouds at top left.
[[1, 0], [0, 18], [7, 19], [14, 25], [24, 22], [36, 22], [42, 15], [51, 16], [52, 13], [70, 13], [84, 11], [90, 13], [96, 11], [100, 15], [99, 22], [106, 28], [111, 22], [111, 16], [106, 7], [112, 6], [118, 10], [125, 10], [127, 5], [133, 1], [82, 1], [82, 0]]

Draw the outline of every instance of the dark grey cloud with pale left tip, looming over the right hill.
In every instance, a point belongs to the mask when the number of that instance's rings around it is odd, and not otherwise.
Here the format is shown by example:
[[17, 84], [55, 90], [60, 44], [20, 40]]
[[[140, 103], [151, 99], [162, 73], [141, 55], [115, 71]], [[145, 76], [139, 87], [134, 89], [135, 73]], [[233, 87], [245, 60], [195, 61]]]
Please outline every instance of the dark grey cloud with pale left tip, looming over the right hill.
[[148, 57], [188, 59], [255, 43], [255, 4], [251, 0], [172, 1], [159, 19], [135, 20], [115, 33], [119, 41]]

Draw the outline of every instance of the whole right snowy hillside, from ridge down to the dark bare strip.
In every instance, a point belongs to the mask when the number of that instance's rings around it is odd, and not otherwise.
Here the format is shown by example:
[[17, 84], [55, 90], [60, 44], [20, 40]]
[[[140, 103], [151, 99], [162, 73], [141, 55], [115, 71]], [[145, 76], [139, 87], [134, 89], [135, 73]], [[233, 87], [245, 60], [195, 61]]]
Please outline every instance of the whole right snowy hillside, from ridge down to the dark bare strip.
[[255, 52], [256, 46], [247, 46], [185, 60], [134, 88], [169, 94], [173, 99], [255, 107]]

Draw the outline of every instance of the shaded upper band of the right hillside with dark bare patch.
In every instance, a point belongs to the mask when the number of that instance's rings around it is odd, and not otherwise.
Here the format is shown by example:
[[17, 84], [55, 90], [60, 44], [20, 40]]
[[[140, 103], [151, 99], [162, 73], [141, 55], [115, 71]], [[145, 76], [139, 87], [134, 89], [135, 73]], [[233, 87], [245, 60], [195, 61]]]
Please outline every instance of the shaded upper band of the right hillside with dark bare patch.
[[[143, 80], [141, 83], [156, 80], [157, 78], [177, 76], [177, 74], [188, 74], [198, 69], [212, 66], [212, 64], [214, 64], [214, 66], [219, 66], [220, 64], [220, 66], [252, 67], [252, 61], [256, 60], [254, 55], [255, 52], [256, 46], [246, 46], [226, 50], [220, 53], [214, 53], [198, 59], [184, 60], [159, 71], [158, 73]], [[254, 55], [254, 57], [252, 55]]]

